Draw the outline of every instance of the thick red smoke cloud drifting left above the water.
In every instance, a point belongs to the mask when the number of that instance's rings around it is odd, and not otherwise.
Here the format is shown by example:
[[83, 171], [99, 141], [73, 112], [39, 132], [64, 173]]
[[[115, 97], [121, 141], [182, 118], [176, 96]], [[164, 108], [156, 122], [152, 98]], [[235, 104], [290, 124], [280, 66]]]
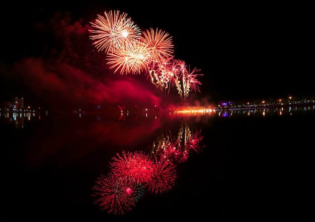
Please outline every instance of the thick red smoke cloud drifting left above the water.
[[16, 63], [15, 72], [25, 85], [53, 105], [160, 105], [161, 98], [134, 78], [101, 83], [94, 76], [67, 63], [48, 63], [26, 58]]

